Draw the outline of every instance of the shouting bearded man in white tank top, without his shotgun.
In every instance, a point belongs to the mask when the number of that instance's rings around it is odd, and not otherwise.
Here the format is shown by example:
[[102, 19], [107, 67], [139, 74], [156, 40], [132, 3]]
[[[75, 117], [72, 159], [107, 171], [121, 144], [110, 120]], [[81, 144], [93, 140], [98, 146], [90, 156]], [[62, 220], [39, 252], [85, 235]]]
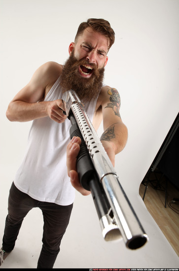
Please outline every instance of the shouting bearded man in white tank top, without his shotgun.
[[10, 121], [34, 121], [25, 158], [9, 192], [1, 258], [14, 248], [24, 217], [33, 207], [39, 207], [44, 227], [37, 268], [53, 268], [69, 224], [74, 188], [83, 195], [89, 194], [80, 186], [75, 171], [73, 158], [80, 139], [69, 138], [71, 124], [62, 101], [65, 91], [76, 91], [96, 130], [103, 119], [105, 132], [101, 141], [113, 165], [115, 154], [124, 148], [127, 128], [119, 114], [119, 94], [116, 89], [103, 86], [107, 52], [113, 42], [114, 32], [106, 20], [81, 23], [65, 65], [42, 65], [9, 103], [6, 116]]

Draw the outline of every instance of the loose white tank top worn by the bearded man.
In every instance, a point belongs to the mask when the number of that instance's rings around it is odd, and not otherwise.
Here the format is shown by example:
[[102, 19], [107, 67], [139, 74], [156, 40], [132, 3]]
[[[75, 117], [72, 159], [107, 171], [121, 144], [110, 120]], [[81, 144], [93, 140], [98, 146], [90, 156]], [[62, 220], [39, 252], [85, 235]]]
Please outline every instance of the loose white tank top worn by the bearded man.
[[[44, 101], [62, 99], [57, 79]], [[91, 119], [95, 112], [95, 101], [85, 105]], [[57, 123], [49, 117], [33, 121], [25, 158], [18, 169], [14, 184], [22, 192], [42, 202], [70, 205], [74, 201], [75, 189], [67, 174], [66, 150], [70, 141], [71, 122]]]

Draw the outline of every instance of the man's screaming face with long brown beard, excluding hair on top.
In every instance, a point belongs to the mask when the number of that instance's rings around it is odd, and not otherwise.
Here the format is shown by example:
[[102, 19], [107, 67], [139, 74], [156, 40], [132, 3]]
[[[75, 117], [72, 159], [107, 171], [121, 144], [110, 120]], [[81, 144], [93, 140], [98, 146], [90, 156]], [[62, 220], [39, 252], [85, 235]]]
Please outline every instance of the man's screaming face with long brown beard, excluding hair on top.
[[91, 28], [70, 44], [70, 57], [61, 74], [63, 92], [72, 89], [83, 101], [91, 101], [99, 94], [107, 64], [107, 45], [108, 39]]

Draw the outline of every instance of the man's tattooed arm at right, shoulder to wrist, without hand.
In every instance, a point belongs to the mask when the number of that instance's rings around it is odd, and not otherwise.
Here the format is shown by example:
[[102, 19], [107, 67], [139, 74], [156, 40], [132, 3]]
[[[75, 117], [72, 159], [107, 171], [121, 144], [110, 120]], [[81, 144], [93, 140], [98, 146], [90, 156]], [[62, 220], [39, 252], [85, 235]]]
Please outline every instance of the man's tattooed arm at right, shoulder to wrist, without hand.
[[115, 155], [122, 151], [126, 145], [128, 131], [119, 113], [121, 103], [118, 91], [105, 87], [102, 95], [104, 133], [100, 139], [114, 166]]

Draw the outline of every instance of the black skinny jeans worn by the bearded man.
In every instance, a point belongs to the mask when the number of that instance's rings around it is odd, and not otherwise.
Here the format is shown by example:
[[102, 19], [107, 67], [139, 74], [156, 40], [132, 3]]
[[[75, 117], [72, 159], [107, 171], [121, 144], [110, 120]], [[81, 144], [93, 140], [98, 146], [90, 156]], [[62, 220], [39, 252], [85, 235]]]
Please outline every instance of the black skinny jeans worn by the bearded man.
[[43, 214], [42, 249], [37, 268], [53, 268], [60, 251], [60, 243], [69, 224], [72, 205], [62, 206], [55, 203], [39, 202], [16, 188], [10, 188], [8, 199], [8, 215], [2, 247], [6, 252], [13, 250], [24, 217], [34, 207], [39, 207]]

